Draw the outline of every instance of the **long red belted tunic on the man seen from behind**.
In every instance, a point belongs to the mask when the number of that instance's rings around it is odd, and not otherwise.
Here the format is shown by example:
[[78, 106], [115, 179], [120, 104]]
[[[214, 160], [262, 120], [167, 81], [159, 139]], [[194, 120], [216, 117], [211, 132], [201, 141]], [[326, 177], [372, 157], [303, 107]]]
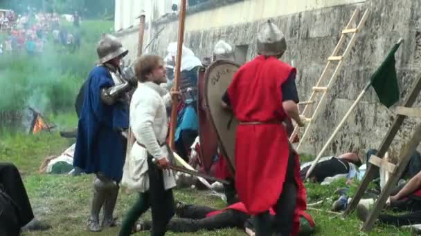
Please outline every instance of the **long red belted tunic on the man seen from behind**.
[[295, 70], [275, 57], [259, 56], [235, 73], [228, 89], [235, 117], [260, 122], [240, 123], [235, 138], [235, 187], [251, 215], [269, 210], [283, 192], [289, 144], [281, 124], [287, 118], [281, 86]]

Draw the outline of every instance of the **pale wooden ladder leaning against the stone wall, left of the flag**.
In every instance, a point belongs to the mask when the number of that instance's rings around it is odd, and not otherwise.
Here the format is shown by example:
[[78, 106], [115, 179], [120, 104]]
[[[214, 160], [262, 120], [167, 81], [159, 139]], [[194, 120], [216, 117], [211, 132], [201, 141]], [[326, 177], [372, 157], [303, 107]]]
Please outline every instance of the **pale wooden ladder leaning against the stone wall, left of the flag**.
[[[312, 125], [314, 119], [316, 119], [317, 115], [319, 115], [320, 110], [321, 110], [321, 104], [323, 104], [323, 101], [327, 97], [326, 95], [328, 95], [330, 88], [332, 88], [334, 81], [336, 81], [337, 79], [339, 70], [341, 70], [343, 66], [343, 59], [345, 59], [346, 56], [349, 54], [352, 46], [354, 46], [355, 44], [355, 40], [357, 39], [357, 33], [361, 31], [361, 29], [364, 27], [364, 23], [366, 23], [366, 19], [368, 17], [368, 10], [364, 12], [363, 16], [361, 17], [361, 20], [359, 21], [357, 25], [356, 21], [357, 21], [358, 15], [359, 15], [359, 9], [356, 9], [354, 13], [352, 14], [350, 21], [348, 22], [348, 25], [346, 25], [345, 30], [342, 30], [341, 38], [339, 39], [337, 46], [334, 48], [332, 55], [328, 57], [328, 63], [326, 64], [325, 69], [323, 70], [321, 77], [319, 78], [319, 81], [317, 81], [316, 86], [312, 88], [312, 95], [310, 96], [310, 99], [308, 101], [303, 101], [299, 103], [299, 105], [305, 105], [303, 112], [301, 112], [301, 117], [303, 121], [307, 123], [307, 127], [305, 128], [303, 136], [300, 137], [300, 142], [296, 150], [298, 150], [301, 144], [303, 144], [303, 141], [310, 130], [310, 126]], [[356, 23], [357, 28], [351, 28], [353, 23]], [[342, 47], [343, 43], [345, 43], [345, 40], [348, 37], [348, 35], [351, 35], [351, 39], [348, 42], [348, 46], [346, 46], [346, 49], [342, 55], [338, 55], [340, 50], [343, 48]], [[322, 82], [325, 80], [325, 77], [328, 76], [328, 71], [334, 64], [336, 64], [336, 68], [334, 69], [334, 72], [328, 81], [328, 85], [322, 86]], [[317, 101], [316, 109], [314, 110], [313, 114], [307, 114], [307, 113], [310, 113], [308, 112], [310, 110], [309, 109], [310, 105], [316, 104], [316, 101], [315, 101], [316, 94], [319, 92], [321, 92], [322, 95], [321, 95], [321, 99]], [[307, 115], [311, 115], [311, 117], [308, 118]], [[292, 132], [292, 135], [289, 138], [290, 142], [294, 141], [298, 133], [298, 130], [299, 130], [299, 127], [295, 126], [294, 132]]]

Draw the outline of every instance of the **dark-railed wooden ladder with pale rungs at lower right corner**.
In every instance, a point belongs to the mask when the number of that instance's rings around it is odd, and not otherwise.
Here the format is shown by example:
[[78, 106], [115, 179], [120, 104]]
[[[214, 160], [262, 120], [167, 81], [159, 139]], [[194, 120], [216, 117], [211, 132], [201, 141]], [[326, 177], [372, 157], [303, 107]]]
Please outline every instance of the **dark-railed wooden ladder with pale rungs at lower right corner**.
[[404, 102], [404, 106], [398, 106], [396, 108], [395, 112], [397, 113], [397, 116], [395, 117], [391, 128], [389, 128], [388, 132], [386, 133], [386, 136], [384, 137], [382, 144], [378, 149], [379, 151], [377, 153], [377, 156], [372, 155], [370, 157], [369, 162], [372, 165], [368, 166], [366, 175], [364, 175], [364, 179], [363, 181], [361, 181], [361, 184], [357, 189], [357, 193], [355, 193], [355, 196], [352, 197], [350, 204], [348, 204], [348, 208], [346, 209], [345, 213], [343, 213], [344, 215], [348, 215], [350, 212], [352, 212], [352, 210], [354, 210], [357, 207], [359, 200], [361, 200], [361, 197], [364, 195], [368, 187], [368, 184], [370, 184], [370, 182], [373, 181], [375, 174], [379, 172], [379, 168], [383, 168], [386, 171], [388, 171], [388, 173], [391, 174], [391, 177], [388, 179], [386, 185], [382, 189], [382, 193], [380, 193], [379, 198], [375, 202], [373, 210], [370, 210], [370, 214], [368, 215], [366, 222], [364, 222], [364, 226], [361, 228], [361, 230], [363, 231], [368, 231], [371, 230], [371, 228], [373, 228], [377, 217], [379, 217], [379, 214], [381, 213], [382, 209], [384, 208], [384, 205], [386, 204], [391, 190], [396, 186], [397, 181], [399, 180], [402, 173], [404, 173], [404, 170], [408, 165], [409, 160], [411, 159], [411, 155], [414, 153], [418, 144], [420, 144], [421, 124], [414, 129], [413, 136], [411, 137], [409, 143], [406, 144], [406, 148], [402, 149], [399, 155], [399, 162], [396, 165], [391, 164], [388, 161], [382, 159], [388, 148], [391, 146], [392, 141], [397, 134], [397, 131], [402, 126], [406, 117], [421, 117], [421, 108], [411, 107], [415, 103], [415, 100], [417, 99], [420, 92], [421, 76], [416, 81], [415, 85], [411, 89], [411, 92], [409, 92], [409, 97], [407, 97], [406, 101]]

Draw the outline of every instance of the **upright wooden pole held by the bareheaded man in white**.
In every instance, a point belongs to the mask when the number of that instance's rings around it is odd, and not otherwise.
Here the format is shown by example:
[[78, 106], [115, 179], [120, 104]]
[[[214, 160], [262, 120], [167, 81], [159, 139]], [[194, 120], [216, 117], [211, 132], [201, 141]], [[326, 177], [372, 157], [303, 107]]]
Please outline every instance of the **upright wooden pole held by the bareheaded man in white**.
[[[181, 53], [183, 51], [183, 40], [184, 40], [184, 22], [186, 21], [186, 1], [180, 0], [180, 12], [179, 12], [179, 39], [177, 41], [177, 59], [175, 61], [175, 77], [174, 77], [174, 89], [179, 90], [179, 77], [181, 74]], [[172, 109], [170, 119], [170, 148], [174, 150], [174, 135], [175, 127], [177, 126], [177, 107], [179, 106], [178, 98], [172, 98]]]

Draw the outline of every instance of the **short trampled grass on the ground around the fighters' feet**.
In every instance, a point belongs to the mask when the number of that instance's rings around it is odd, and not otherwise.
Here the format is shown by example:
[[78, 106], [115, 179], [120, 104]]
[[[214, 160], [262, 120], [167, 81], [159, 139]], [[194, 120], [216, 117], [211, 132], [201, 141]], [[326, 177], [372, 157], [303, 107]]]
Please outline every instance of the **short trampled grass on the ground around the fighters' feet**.
[[[67, 117], [66, 117], [67, 116]], [[74, 127], [75, 119], [71, 115], [53, 117], [53, 121], [62, 121], [63, 127]], [[65, 175], [42, 175], [37, 173], [42, 160], [49, 155], [58, 155], [74, 140], [63, 139], [57, 133], [40, 135], [3, 135], [0, 139], [1, 161], [15, 163], [24, 175], [24, 182], [33, 204], [34, 212], [39, 219], [50, 222], [53, 228], [46, 232], [32, 232], [24, 235], [99, 235], [85, 230], [85, 222], [89, 214], [91, 200], [92, 175], [68, 177]], [[309, 203], [323, 200], [323, 204], [315, 206], [321, 210], [329, 210], [334, 201], [334, 190], [344, 186], [345, 181], [334, 182], [331, 186], [306, 184], [307, 201]], [[352, 187], [355, 189], [357, 184]], [[222, 208], [224, 203], [217, 197], [208, 195], [206, 191], [192, 189], [175, 190], [175, 197], [192, 204], [201, 204]], [[121, 219], [136, 195], [121, 193], [116, 208], [116, 216]], [[362, 223], [354, 213], [346, 219], [323, 211], [308, 210], [316, 222], [314, 235], [411, 235], [407, 229], [377, 225], [370, 233], [360, 233]], [[150, 218], [148, 213], [145, 217]], [[118, 228], [107, 229], [100, 235], [116, 235]], [[149, 235], [147, 232], [137, 235]], [[168, 233], [168, 235], [244, 235], [242, 230], [224, 229], [202, 231], [199, 233]]]

